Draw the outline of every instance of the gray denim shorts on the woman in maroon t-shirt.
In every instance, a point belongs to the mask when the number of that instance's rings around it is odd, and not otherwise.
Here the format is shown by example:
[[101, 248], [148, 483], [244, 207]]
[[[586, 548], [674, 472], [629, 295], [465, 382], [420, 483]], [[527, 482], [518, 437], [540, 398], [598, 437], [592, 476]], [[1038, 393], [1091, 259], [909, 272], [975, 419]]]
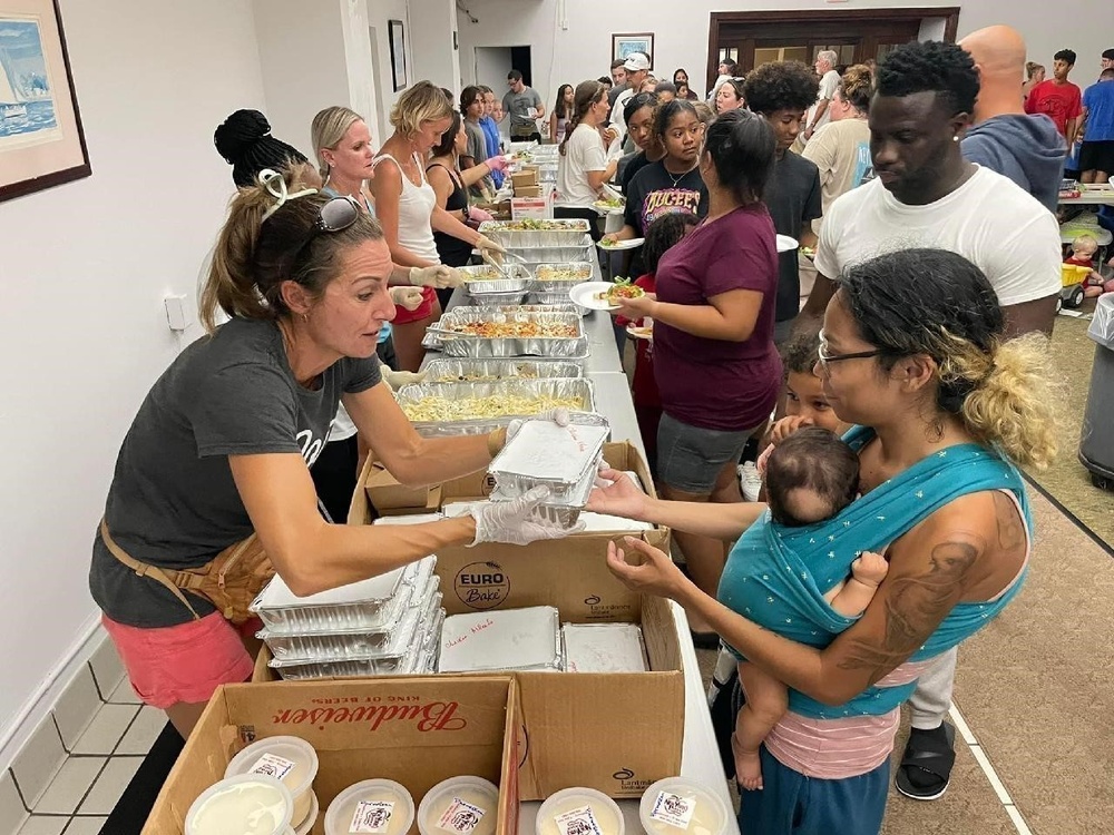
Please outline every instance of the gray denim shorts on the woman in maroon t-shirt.
[[739, 463], [754, 431], [701, 429], [663, 414], [657, 426], [658, 481], [686, 493], [711, 493], [723, 465]]

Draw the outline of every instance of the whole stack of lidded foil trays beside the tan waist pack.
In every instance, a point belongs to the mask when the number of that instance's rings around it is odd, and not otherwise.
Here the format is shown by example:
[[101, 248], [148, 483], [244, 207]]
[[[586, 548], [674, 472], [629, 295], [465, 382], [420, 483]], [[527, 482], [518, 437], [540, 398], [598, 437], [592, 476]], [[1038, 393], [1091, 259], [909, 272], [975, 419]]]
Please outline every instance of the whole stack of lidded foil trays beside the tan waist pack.
[[431, 672], [441, 625], [436, 557], [300, 598], [277, 574], [252, 602], [257, 633], [287, 680]]

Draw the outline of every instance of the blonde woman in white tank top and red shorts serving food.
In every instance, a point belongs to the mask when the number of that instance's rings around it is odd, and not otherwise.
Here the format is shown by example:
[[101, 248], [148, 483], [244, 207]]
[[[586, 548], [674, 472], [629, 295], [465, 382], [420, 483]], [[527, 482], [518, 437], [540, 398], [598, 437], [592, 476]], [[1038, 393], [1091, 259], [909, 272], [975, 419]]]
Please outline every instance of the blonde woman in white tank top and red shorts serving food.
[[[465, 226], [437, 205], [433, 187], [426, 179], [424, 159], [452, 124], [452, 105], [429, 81], [419, 81], [391, 109], [394, 132], [372, 160], [370, 180], [375, 214], [391, 256], [405, 266], [429, 267], [440, 263], [433, 230], [444, 232], [488, 253], [502, 253], [498, 244]], [[388, 165], [384, 165], [388, 163]], [[458, 276], [459, 279], [459, 276]], [[403, 371], [417, 372], [426, 356], [426, 327], [441, 315], [432, 287], [413, 312], [394, 318], [394, 350]]]

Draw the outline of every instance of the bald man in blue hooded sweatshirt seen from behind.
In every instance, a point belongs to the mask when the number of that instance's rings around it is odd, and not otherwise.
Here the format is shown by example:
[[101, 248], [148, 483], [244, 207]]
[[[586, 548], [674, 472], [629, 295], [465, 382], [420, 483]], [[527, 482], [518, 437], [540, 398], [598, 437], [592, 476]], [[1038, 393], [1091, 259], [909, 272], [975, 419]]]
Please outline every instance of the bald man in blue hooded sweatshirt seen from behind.
[[1052, 119], [1025, 112], [1025, 40], [1016, 29], [991, 26], [971, 32], [959, 46], [979, 73], [975, 124], [960, 145], [964, 156], [1014, 180], [1055, 212], [1066, 149]]

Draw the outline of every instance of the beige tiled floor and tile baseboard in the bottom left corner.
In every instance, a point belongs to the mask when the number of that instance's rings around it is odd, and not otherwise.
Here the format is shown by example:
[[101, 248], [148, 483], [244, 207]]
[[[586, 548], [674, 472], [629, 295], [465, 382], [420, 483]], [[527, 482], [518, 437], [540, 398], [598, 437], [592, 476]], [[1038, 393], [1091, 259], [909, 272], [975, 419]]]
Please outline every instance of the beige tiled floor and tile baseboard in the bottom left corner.
[[0, 835], [98, 835], [165, 725], [98, 651], [0, 774]]

